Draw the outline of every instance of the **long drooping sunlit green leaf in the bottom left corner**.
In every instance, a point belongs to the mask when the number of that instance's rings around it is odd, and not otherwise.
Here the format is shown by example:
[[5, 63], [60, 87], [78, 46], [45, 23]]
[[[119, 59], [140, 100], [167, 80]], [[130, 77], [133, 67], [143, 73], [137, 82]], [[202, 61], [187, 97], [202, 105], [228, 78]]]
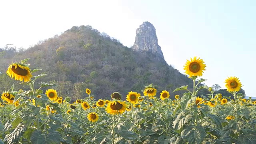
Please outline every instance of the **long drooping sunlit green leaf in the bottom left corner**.
[[18, 143], [20, 140], [20, 137], [22, 137], [25, 130], [26, 130], [26, 126], [24, 124], [22, 123], [18, 124], [18, 126], [15, 128], [15, 130], [12, 133], [6, 134], [4, 138], [4, 142], [7, 141], [7, 144]]

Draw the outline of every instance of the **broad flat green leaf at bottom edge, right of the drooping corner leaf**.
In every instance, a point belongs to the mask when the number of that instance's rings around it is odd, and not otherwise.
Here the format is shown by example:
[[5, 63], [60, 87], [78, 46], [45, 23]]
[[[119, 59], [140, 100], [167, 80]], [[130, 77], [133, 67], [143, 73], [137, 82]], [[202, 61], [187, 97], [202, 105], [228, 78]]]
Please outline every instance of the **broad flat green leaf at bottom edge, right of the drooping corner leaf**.
[[34, 131], [30, 137], [32, 144], [60, 144], [61, 135], [51, 129], [48, 132], [48, 134], [42, 134], [41, 130]]

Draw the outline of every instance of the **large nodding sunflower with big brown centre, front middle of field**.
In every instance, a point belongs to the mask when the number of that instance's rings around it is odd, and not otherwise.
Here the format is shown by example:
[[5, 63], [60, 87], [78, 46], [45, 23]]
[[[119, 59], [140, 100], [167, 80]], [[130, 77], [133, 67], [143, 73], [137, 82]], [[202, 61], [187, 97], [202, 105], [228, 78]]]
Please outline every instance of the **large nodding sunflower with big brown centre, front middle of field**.
[[126, 110], [126, 104], [124, 102], [120, 102], [119, 100], [114, 100], [108, 103], [106, 111], [109, 114], [122, 114]]

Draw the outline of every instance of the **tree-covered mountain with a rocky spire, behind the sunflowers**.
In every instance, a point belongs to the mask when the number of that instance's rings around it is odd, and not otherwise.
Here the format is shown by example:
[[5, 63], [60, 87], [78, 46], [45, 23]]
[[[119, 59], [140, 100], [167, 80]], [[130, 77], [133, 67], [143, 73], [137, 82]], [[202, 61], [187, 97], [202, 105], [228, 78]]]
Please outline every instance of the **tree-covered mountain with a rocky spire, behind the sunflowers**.
[[94, 92], [96, 99], [109, 99], [116, 91], [125, 99], [129, 91], [140, 92], [151, 83], [156, 86], [158, 96], [162, 90], [168, 90], [174, 98], [175, 94], [183, 93], [171, 93], [175, 88], [193, 85], [192, 80], [164, 61], [155, 28], [149, 22], [137, 29], [132, 48], [92, 26], [73, 26], [27, 50], [17, 51], [14, 46], [0, 48], [0, 92], [10, 89], [13, 83], [17, 90], [28, 89], [5, 74], [8, 64], [25, 58], [31, 58], [28, 61], [31, 69], [42, 69], [34, 75], [47, 74], [37, 83], [56, 83], [54, 89], [59, 96], [74, 99], [87, 96], [86, 88]]

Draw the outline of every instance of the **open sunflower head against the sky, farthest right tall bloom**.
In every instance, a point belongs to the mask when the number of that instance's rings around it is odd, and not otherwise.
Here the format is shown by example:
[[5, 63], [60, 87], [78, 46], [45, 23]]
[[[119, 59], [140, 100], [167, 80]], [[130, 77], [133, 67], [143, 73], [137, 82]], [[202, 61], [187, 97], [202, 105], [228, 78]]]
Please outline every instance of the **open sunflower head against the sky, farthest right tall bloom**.
[[240, 90], [240, 88], [242, 87], [242, 84], [240, 82], [240, 80], [238, 80], [237, 77], [233, 77], [231, 76], [230, 78], [228, 77], [226, 80], [225, 80], [225, 86], [227, 88], [227, 91], [229, 92], [238, 92]]

